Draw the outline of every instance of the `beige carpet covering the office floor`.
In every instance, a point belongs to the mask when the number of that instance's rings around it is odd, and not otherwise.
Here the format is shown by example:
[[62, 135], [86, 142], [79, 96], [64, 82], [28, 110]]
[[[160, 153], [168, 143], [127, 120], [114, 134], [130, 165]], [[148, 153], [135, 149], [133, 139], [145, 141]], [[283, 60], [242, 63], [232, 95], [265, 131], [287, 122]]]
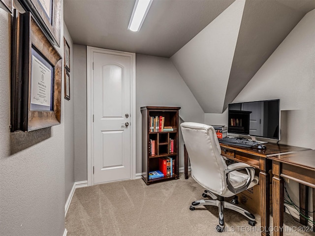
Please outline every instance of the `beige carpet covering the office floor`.
[[[251, 227], [247, 218], [229, 209], [224, 209], [227, 232], [217, 233], [217, 207], [189, 210], [203, 190], [183, 175], [148, 186], [136, 179], [78, 188], [65, 218], [67, 236], [260, 236], [259, 215]], [[301, 225], [286, 213], [284, 223], [284, 236], [314, 236], [297, 232]]]

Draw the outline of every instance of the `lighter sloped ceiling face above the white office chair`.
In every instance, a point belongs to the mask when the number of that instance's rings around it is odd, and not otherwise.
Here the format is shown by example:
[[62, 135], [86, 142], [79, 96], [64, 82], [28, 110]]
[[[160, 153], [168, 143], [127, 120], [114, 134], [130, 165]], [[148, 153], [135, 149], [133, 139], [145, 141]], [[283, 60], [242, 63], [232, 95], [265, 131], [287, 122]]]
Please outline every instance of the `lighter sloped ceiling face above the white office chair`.
[[244, 3], [234, 1], [171, 57], [204, 111], [222, 111]]

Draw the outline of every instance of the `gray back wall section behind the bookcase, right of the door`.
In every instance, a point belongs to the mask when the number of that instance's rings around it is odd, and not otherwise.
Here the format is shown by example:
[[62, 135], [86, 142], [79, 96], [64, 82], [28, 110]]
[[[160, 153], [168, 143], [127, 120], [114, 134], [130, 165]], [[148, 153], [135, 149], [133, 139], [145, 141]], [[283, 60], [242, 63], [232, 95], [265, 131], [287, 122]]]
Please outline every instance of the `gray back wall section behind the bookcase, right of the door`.
[[[177, 106], [180, 121], [204, 121], [204, 112], [171, 59], [136, 55], [136, 173], [141, 167], [141, 112], [144, 106]], [[179, 135], [179, 167], [184, 167], [184, 143]]]

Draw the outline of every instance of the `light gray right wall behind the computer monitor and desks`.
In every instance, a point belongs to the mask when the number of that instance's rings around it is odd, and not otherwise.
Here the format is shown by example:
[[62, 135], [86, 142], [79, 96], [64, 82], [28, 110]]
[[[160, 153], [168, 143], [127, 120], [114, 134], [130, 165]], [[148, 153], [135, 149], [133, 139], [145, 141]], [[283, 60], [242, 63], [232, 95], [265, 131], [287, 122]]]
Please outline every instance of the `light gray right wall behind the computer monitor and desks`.
[[[280, 98], [280, 144], [315, 149], [315, 10], [284, 39], [233, 102]], [[227, 124], [227, 112], [205, 114], [205, 123]], [[298, 204], [298, 184], [287, 185]], [[310, 191], [311, 195], [311, 191]], [[310, 197], [311, 199], [311, 197]], [[309, 209], [312, 211], [310, 201]]]

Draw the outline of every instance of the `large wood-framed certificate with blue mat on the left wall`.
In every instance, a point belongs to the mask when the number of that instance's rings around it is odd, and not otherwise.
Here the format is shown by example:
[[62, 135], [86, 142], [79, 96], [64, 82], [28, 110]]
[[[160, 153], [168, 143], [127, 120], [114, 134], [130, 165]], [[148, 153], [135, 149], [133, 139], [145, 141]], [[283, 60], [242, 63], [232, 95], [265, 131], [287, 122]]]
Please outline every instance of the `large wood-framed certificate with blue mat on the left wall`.
[[[11, 132], [28, 132], [60, 124], [62, 57], [30, 12], [20, 14], [14, 10], [12, 35]], [[48, 82], [47, 90], [42, 82]], [[39, 91], [36, 94], [32, 94], [34, 85]], [[48, 105], [37, 105], [34, 95], [49, 96]], [[32, 105], [35, 106], [32, 108]]]

